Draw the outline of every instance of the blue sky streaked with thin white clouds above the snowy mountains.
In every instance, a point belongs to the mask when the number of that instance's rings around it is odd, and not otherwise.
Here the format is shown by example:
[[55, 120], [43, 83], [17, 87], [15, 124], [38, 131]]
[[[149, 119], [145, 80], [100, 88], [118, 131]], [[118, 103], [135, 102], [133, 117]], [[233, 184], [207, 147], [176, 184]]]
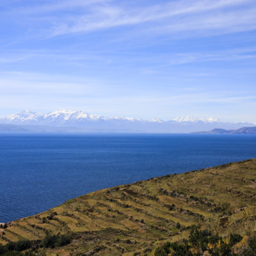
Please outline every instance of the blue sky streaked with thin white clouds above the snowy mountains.
[[256, 123], [255, 0], [1, 0], [0, 117]]

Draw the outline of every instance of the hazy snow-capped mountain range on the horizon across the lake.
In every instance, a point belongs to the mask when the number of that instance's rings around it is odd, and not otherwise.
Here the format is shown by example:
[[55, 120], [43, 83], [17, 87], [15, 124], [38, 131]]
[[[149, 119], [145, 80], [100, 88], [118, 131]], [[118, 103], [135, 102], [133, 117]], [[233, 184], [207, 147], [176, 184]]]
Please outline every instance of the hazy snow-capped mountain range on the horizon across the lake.
[[36, 125], [43, 125], [47, 127], [47, 131], [51, 126], [58, 127], [58, 131], [81, 132], [197, 132], [216, 128], [239, 129], [244, 126], [254, 126], [250, 123], [221, 122], [217, 118], [195, 119], [190, 116], [179, 116], [169, 121], [163, 121], [159, 118], [143, 120], [119, 116], [108, 118], [66, 109], [46, 114], [34, 113], [26, 109], [0, 119], [0, 124], [26, 125], [27, 128], [28, 125], [33, 125], [34, 129]]

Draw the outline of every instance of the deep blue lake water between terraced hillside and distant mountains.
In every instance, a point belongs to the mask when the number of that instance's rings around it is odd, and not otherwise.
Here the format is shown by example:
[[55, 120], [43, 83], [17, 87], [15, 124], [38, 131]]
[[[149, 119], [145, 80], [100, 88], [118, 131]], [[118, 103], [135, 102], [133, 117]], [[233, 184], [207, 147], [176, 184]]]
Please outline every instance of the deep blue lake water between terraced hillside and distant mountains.
[[0, 134], [0, 222], [97, 189], [256, 157], [256, 136]]

